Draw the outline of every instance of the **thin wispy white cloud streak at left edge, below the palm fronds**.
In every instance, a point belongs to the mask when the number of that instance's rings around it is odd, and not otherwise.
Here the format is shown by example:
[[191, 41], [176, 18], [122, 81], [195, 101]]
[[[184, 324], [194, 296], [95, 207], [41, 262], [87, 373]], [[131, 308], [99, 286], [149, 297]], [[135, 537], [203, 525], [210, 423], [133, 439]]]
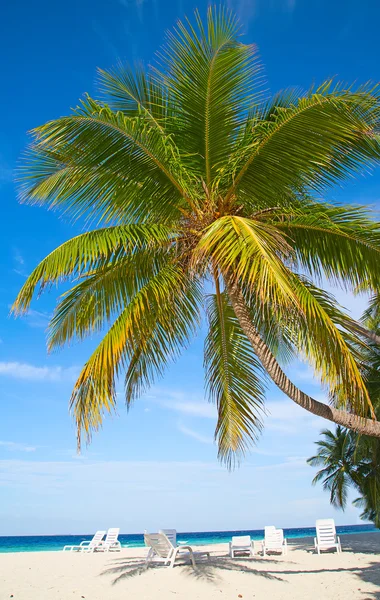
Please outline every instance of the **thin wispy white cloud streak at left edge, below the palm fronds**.
[[78, 367], [36, 367], [28, 363], [0, 362], [0, 376], [27, 381], [75, 381]]

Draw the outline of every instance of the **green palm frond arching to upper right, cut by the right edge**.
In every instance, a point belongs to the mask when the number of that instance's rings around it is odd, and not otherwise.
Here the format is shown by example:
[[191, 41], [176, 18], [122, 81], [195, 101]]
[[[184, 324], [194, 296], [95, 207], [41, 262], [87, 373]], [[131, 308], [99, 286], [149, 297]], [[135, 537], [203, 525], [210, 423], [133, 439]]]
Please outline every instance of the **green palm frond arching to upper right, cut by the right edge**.
[[231, 157], [226, 201], [239, 191], [250, 194], [253, 205], [290, 189], [320, 191], [378, 162], [379, 116], [376, 86], [345, 89], [331, 80], [274, 108], [268, 119], [253, 122], [241, 158]]

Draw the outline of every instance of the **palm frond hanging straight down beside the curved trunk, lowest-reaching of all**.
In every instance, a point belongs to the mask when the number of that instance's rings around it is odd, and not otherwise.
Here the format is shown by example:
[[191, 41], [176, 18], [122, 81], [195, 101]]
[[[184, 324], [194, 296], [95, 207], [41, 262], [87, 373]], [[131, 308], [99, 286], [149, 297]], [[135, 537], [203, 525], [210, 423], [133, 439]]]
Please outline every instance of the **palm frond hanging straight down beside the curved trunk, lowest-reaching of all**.
[[225, 292], [208, 296], [207, 316], [207, 393], [218, 409], [218, 456], [231, 468], [261, 431], [265, 376]]

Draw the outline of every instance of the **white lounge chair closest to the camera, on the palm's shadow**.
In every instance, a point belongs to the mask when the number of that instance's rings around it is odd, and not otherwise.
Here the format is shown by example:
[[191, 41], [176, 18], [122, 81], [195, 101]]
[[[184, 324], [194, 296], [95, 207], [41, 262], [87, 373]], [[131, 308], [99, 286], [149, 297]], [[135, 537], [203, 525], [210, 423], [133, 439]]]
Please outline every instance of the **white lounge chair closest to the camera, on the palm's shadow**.
[[194, 553], [191, 546], [174, 546], [165, 533], [144, 533], [145, 545], [149, 547], [149, 552], [145, 559], [149, 566], [152, 562], [163, 563], [174, 567], [176, 560], [188, 558], [195, 568], [194, 554], [203, 554], [210, 558], [209, 552]]

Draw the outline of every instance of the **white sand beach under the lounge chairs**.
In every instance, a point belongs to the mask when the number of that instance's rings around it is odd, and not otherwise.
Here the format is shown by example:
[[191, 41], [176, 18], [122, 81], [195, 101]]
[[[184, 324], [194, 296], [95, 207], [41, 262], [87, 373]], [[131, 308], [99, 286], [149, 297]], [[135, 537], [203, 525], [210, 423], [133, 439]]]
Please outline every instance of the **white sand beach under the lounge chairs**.
[[209, 546], [210, 562], [195, 571], [188, 565], [145, 570], [145, 548], [0, 554], [0, 599], [380, 599], [380, 533], [341, 540], [341, 555], [318, 556], [305, 538], [290, 540], [287, 556], [234, 560], [226, 544]]

